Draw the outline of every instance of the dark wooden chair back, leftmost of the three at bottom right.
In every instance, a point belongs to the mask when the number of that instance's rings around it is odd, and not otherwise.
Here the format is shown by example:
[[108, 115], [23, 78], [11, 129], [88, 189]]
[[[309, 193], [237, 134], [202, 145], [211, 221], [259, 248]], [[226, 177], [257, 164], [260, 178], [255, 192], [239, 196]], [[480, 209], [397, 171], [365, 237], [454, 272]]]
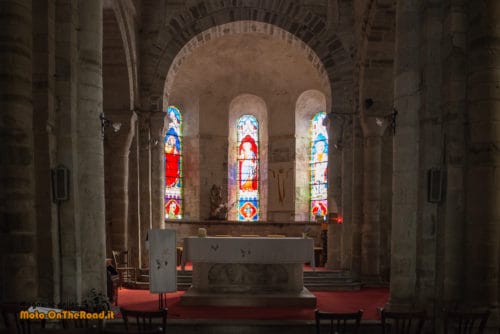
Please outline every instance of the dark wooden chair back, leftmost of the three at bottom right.
[[316, 334], [321, 334], [322, 320], [330, 321], [330, 334], [357, 334], [363, 317], [363, 310], [354, 313], [331, 313], [316, 309], [314, 313], [316, 315]]

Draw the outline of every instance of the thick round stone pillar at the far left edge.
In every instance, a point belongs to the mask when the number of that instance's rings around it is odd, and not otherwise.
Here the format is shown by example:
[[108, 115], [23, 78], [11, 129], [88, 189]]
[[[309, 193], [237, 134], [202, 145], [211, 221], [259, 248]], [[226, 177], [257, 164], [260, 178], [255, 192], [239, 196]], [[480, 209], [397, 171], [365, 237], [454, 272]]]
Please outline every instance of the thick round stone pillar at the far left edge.
[[32, 1], [2, 1], [0, 13], [0, 300], [26, 302], [38, 295]]

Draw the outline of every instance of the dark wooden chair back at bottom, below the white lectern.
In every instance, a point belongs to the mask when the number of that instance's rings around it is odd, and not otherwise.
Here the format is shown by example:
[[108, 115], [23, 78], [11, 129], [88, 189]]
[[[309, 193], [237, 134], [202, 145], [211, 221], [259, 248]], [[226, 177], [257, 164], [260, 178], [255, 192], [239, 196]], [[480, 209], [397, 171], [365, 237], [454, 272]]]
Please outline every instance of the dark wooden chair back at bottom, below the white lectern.
[[[166, 333], [168, 314], [168, 309], [166, 308], [158, 311], [137, 311], [121, 307], [120, 312], [127, 332], [135, 330], [141, 333], [151, 331]], [[130, 320], [132, 320], [132, 318], [135, 318], [135, 325], [131, 324]], [[153, 319], [160, 319], [161, 325], [158, 326], [157, 323], [153, 323]]]

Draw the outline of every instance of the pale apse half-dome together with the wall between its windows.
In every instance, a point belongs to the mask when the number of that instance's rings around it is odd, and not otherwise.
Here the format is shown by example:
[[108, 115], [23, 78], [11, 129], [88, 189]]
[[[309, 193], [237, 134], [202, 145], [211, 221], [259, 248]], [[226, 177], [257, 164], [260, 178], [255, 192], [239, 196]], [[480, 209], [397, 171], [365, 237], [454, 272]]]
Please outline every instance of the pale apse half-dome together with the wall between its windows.
[[[230, 50], [238, 50], [238, 52]], [[255, 50], [260, 51], [255, 53]], [[292, 67], [295, 69], [291, 70]], [[274, 75], [271, 74], [273, 72]], [[203, 75], [200, 76], [200, 73]], [[251, 73], [251, 76], [246, 77], [246, 74], [243, 75], [243, 73]], [[214, 81], [209, 81], [208, 77], [214, 78]], [[231, 81], [237, 83], [238, 87], [228, 85], [228, 82]], [[248, 82], [253, 82], [253, 84]], [[220, 87], [225, 88], [221, 91]], [[205, 155], [201, 147], [205, 147], [206, 143], [203, 138], [213, 141], [217, 137], [221, 147], [227, 146], [231, 126], [220, 128], [220, 121], [226, 123], [225, 120], [228, 117], [226, 113], [231, 110], [230, 105], [233, 99], [243, 94], [252, 94], [262, 98], [265, 104], [271, 100], [274, 101], [271, 101], [270, 104], [274, 112], [269, 114], [270, 119], [266, 122], [272, 123], [272, 119], [274, 119], [275, 123], [283, 123], [277, 115], [284, 115], [283, 113], [287, 115], [286, 130], [284, 129], [284, 132], [272, 138], [274, 145], [269, 148], [270, 152], [267, 155], [270, 158], [269, 175], [271, 175], [271, 179], [269, 182], [273, 182], [273, 187], [268, 188], [270, 191], [268, 198], [271, 204], [274, 203], [268, 207], [272, 211], [268, 219], [295, 220], [293, 205], [295, 192], [292, 182], [294, 179], [293, 147], [295, 146], [294, 110], [295, 101], [307, 89], [314, 89], [324, 96], [325, 106], [323, 110], [327, 110], [331, 104], [329, 79], [314, 51], [290, 33], [266, 23], [242, 21], [214, 27], [203, 32], [200, 36], [195, 36], [181, 50], [167, 76], [163, 109], [170, 104], [175, 104], [188, 115], [185, 129], [189, 133], [186, 133], [185, 140], [190, 143], [190, 150], [193, 150], [190, 152], [199, 155], [201, 160], [191, 159], [189, 167], [185, 170], [186, 175], [192, 176], [186, 181], [185, 194], [189, 196], [190, 203], [200, 203], [200, 217], [203, 217], [206, 212], [206, 203], [203, 199], [208, 195], [205, 193], [206, 190], [202, 191], [200, 188], [200, 184], [205, 182], [203, 180], [206, 176], [200, 178], [199, 172], [192, 169], [196, 169], [195, 166], [198, 166], [204, 159]], [[219, 93], [221, 94], [220, 98], [214, 100], [214, 97], [218, 96]], [[211, 102], [208, 103], [208, 100]], [[277, 103], [278, 100], [281, 102]], [[215, 103], [217, 108], [213, 109], [211, 103]], [[221, 110], [224, 111], [221, 112]], [[217, 115], [218, 123], [213, 123], [212, 115]], [[234, 119], [231, 120], [229, 116], [228, 121], [231, 124]], [[217, 135], [211, 132], [209, 137], [206, 136], [209, 124], [216, 128]], [[223, 151], [224, 153], [217, 153], [220, 154], [220, 160], [224, 163], [230, 162], [232, 159], [228, 159], [226, 150]], [[214, 153], [212, 152], [212, 154]], [[223, 167], [224, 170], [226, 168], [227, 166]], [[276, 176], [272, 178], [272, 175], [273, 173], [282, 173], [279, 172], [280, 170], [286, 170], [289, 178], [290, 189], [287, 191], [286, 201], [284, 199], [278, 200], [275, 194], [277, 193], [274, 184]], [[263, 168], [263, 171], [262, 176], [266, 176], [267, 168]], [[226, 176], [220, 175], [218, 171], [207, 171], [204, 168], [202, 174], [207, 172], [212, 175], [211, 179], [217, 180], [218, 184], [226, 185], [228, 183]], [[159, 179], [159, 176], [153, 176], [153, 182], [157, 182]], [[199, 191], [194, 191], [195, 189]], [[276, 200], [273, 201], [274, 195], [276, 195]], [[262, 198], [264, 199], [266, 196], [266, 191], [264, 191]], [[265, 202], [263, 201], [263, 203]], [[190, 218], [196, 218], [196, 216], [190, 215]]]

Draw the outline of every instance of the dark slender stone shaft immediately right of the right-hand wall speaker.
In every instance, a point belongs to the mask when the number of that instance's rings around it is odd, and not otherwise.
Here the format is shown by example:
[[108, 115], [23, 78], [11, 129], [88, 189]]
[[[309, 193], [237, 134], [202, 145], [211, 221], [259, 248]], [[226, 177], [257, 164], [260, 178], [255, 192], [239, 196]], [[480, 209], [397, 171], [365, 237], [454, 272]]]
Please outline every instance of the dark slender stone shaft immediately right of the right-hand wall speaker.
[[[446, 136], [444, 221], [437, 226], [443, 253], [438, 261], [439, 295], [443, 307], [462, 300], [464, 259], [464, 168], [466, 110], [467, 0], [448, 0], [442, 40], [443, 130]], [[446, 284], [445, 284], [446, 282]]]

